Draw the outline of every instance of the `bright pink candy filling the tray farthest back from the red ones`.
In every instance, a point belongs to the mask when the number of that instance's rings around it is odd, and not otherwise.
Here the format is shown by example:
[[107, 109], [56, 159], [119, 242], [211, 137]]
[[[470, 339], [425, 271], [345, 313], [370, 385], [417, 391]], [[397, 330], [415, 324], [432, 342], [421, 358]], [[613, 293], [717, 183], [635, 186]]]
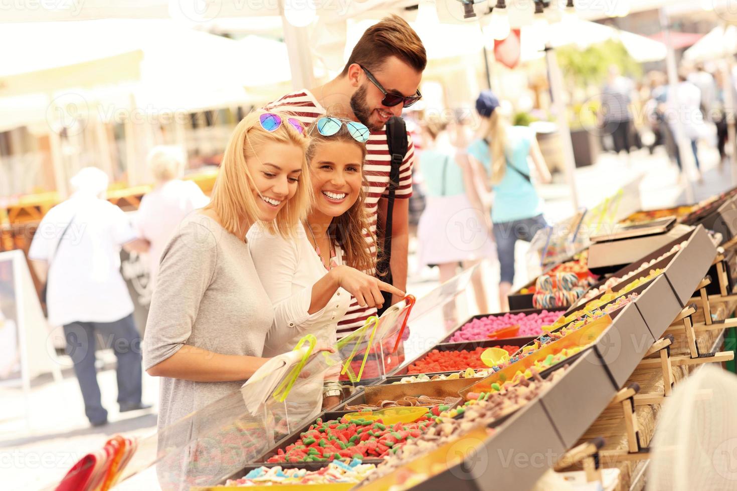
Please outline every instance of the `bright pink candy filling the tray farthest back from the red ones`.
[[551, 325], [565, 311], [548, 312], [539, 314], [495, 314], [489, 317], [481, 317], [468, 322], [458, 331], [455, 331], [450, 342], [478, 341], [489, 339], [489, 334], [508, 328], [510, 325], [520, 325], [520, 330], [514, 337], [539, 336], [542, 334], [542, 325]]

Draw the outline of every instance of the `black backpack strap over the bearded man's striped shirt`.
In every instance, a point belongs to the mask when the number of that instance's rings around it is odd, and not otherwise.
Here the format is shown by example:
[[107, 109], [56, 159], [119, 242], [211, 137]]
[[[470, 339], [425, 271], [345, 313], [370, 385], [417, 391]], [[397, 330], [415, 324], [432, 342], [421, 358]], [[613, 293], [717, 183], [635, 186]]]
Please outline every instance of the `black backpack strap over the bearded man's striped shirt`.
[[[399, 167], [407, 155], [407, 126], [405, 120], [398, 116], [393, 116], [386, 122], [386, 141], [389, 146], [389, 155], [391, 157], [391, 169], [389, 170], [389, 196], [386, 205], [386, 223], [380, 227], [379, 257], [377, 259], [377, 269], [384, 272], [381, 275], [382, 280], [391, 283], [391, 270], [389, 269], [389, 261], [391, 261], [391, 227], [394, 214], [394, 197], [399, 187]], [[379, 224], [381, 225], [381, 224]], [[389, 300], [391, 301], [391, 294]], [[385, 307], [388, 307], [385, 303]]]

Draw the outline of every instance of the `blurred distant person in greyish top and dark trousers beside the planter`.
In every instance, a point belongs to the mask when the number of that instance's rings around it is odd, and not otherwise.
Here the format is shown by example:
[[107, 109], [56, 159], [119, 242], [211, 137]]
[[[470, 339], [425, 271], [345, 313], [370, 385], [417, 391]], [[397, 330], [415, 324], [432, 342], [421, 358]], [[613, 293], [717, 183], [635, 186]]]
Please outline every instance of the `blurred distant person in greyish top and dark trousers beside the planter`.
[[622, 77], [616, 65], [609, 66], [609, 78], [601, 89], [601, 110], [599, 124], [606, 133], [612, 135], [614, 152], [622, 150], [629, 154], [632, 141], [629, 138], [632, 126], [632, 92], [635, 90], [632, 80]]

